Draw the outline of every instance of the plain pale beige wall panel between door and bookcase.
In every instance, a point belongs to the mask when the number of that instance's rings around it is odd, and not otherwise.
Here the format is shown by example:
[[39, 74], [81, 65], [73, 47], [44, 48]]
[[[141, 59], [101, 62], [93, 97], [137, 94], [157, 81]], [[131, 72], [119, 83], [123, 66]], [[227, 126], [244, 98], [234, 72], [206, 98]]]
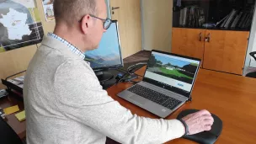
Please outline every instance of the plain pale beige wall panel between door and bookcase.
[[171, 51], [173, 0], [141, 0], [142, 48]]

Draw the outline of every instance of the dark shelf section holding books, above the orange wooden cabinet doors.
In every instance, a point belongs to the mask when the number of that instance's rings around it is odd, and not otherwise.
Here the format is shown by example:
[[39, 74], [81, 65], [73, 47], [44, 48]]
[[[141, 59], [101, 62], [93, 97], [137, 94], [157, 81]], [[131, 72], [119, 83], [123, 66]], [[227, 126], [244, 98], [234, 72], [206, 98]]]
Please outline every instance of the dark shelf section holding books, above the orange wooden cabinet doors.
[[[173, 27], [250, 31], [254, 6], [255, 0], [174, 0]], [[217, 28], [205, 28], [205, 24], [217, 24]]]

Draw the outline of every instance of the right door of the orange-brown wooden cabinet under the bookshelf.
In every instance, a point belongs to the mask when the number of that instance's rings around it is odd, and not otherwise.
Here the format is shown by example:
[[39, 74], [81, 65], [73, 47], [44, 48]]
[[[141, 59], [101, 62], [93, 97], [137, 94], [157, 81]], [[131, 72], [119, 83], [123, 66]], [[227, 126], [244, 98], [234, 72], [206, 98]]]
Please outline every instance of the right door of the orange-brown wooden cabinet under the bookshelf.
[[242, 75], [248, 47], [249, 32], [206, 30], [205, 56], [206, 69]]

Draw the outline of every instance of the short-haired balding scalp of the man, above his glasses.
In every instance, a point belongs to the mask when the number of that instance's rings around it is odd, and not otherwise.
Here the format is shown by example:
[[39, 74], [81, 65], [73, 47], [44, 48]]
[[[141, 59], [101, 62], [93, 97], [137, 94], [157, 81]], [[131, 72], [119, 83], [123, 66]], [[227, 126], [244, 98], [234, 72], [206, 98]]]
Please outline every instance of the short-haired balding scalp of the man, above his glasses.
[[97, 0], [55, 0], [54, 14], [56, 24], [72, 25], [83, 18], [85, 14], [97, 15]]

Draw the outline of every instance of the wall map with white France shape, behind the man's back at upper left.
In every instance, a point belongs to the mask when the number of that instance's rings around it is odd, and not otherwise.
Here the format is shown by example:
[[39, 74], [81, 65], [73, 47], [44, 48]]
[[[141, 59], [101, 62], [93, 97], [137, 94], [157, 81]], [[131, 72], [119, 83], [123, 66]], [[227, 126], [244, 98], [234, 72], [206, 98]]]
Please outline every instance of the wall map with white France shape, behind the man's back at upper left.
[[34, 0], [0, 0], [0, 52], [42, 41], [44, 30]]

